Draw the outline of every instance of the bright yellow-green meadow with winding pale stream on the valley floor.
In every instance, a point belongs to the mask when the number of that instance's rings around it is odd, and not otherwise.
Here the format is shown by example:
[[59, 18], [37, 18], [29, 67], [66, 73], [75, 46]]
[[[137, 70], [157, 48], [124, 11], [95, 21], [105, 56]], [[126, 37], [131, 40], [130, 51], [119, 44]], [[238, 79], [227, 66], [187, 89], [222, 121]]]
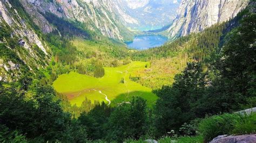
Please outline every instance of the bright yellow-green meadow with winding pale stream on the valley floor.
[[[151, 88], [143, 87], [139, 83], [130, 80], [130, 74], [142, 71], [147, 62], [134, 61], [128, 65], [119, 67], [105, 67], [105, 75], [95, 78], [87, 75], [70, 72], [60, 75], [53, 82], [53, 87], [57, 92], [66, 96], [71, 104], [82, 104], [85, 97], [91, 101], [109, 103], [105, 95], [111, 101], [111, 105], [130, 101], [132, 96], [140, 96], [147, 100], [147, 104], [152, 106], [157, 96], [152, 93]], [[124, 78], [124, 83], [122, 83]]]

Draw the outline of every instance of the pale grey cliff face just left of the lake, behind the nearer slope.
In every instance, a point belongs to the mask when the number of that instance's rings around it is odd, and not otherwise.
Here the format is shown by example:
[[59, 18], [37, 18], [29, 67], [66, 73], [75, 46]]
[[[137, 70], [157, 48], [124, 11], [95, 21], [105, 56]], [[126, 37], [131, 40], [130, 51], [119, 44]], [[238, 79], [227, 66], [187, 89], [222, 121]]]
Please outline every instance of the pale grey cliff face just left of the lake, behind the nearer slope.
[[[77, 20], [86, 25], [85, 28], [100, 32], [107, 37], [123, 40], [129, 30], [119, 21], [116, 15], [114, 1], [104, 0], [21, 0], [24, 8], [33, 8], [38, 12], [51, 12], [54, 15], [68, 19]], [[26, 9], [28, 12], [29, 9]], [[29, 12], [31, 13], [31, 12]], [[35, 12], [36, 13], [36, 12]], [[32, 15], [32, 14], [31, 14]], [[35, 15], [35, 14], [33, 14]], [[38, 25], [38, 24], [37, 24]], [[42, 26], [40, 26], [42, 27]], [[50, 28], [43, 28], [50, 31]], [[48, 30], [46, 30], [48, 29]]]

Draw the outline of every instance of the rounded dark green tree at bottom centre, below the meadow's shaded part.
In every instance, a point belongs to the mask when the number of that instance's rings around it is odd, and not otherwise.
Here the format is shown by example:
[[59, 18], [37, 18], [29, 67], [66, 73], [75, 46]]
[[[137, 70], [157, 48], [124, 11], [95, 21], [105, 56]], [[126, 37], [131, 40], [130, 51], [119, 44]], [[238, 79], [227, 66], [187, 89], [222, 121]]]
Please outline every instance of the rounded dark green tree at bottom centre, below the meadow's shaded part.
[[133, 98], [131, 103], [118, 106], [111, 113], [107, 124], [106, 139], [123, 141], [126, 138], [139, 139], [146, 132], [147, 113], [146, 101], [143, 98]]

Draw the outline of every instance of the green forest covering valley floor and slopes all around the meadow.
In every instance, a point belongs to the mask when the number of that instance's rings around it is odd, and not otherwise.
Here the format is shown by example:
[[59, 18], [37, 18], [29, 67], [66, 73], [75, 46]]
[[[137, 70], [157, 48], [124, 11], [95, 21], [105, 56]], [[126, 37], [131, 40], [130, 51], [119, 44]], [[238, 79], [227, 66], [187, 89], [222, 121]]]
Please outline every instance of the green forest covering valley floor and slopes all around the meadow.
[[[256, 114], [234, 113], [256, 105], [256, 15], [250, 9], [146, 51], [93, 39], [82, 26], [46, 13], [65, 37], [57, 31], [41, 33], [52, 50], [49, 66], [35, 73], [26, 67], [17, 81], [0, 81], [0, 142], [208, 142], [222, 134], [255, 134]], [[1, 30], [7, 34], [1, 32], [0, 39], [10, 40], [8, 27]], [[0, 55], [22, 63], [7, 48], [0, 44]], [[99, 78], [105, 75], [104, 67], [132, 61], [149, 62], [145, 68], [152, 70], [160, 71], [159, 63], [174, 67], [172, 75], [163, 71], [159, 77], [149, 71], [129, 76], [153, 89], [157, 99], [152, 106], [137, 96], [110, 106], [85, 98], [77, 106], [52, 86], [59, 75], [71, 71]]]

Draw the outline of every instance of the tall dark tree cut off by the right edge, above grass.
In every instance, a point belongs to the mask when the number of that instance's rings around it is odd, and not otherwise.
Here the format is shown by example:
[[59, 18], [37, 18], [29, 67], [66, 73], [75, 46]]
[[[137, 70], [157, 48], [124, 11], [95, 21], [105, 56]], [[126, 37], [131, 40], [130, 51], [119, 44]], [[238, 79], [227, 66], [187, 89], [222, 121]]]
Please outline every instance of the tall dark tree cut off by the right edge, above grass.
[[[255, 82], [255, 37], [256, 33], [252, 28], [256, 26], [256, 14], [252, 13], [242, 19], [241, 25], [233, 30], [228, 37], [223, 48], [224, 62], [221, 70], [227, 80], [233, 80], [233, 88], [243, 96], [255, 96], [255, 94], [246, 92], [255, 88], [251, 86]], [[234, 62], [235, 61], [235, 62]], [[249, 83], [249, 84], [248, 84]]]

